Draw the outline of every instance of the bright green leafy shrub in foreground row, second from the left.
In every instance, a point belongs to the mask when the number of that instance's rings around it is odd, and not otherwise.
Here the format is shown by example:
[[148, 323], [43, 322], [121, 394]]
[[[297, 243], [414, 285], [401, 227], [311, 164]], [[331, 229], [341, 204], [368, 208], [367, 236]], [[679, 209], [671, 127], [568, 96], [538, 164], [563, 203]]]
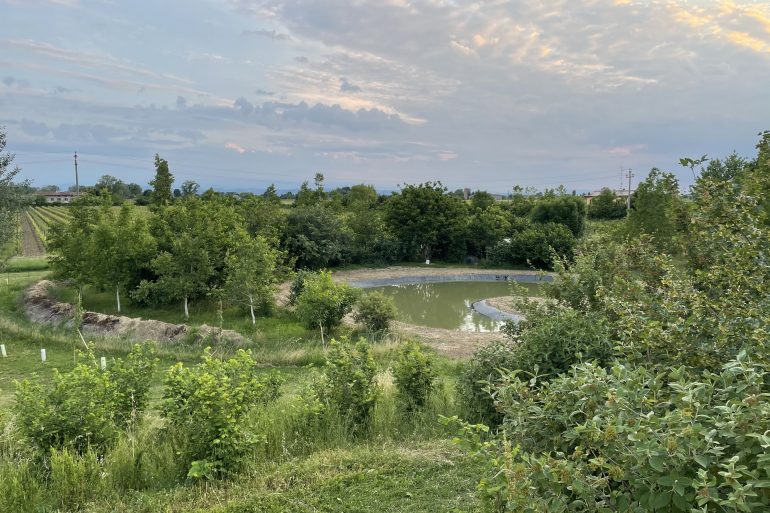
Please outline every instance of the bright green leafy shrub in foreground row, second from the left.
[[215, 477], [235, 470], [258, 441], [246, 425], [257, 404], [275, 400], [276, 374], [256, 376], [251, 353], [220, 360], [206, 348], [201, 363], [172, 367], [164, 380], [162, 414], [182, 446], [188, 477]]

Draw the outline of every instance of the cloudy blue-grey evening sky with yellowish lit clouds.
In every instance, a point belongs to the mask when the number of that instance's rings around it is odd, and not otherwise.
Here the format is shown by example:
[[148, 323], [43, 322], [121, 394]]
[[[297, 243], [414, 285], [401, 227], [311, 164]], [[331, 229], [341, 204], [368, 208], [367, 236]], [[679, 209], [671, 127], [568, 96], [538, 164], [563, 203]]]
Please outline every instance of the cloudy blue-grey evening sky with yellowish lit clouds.
[[35, 185], [619, 188], [770, 129], [770, 1], [0, 0]]

